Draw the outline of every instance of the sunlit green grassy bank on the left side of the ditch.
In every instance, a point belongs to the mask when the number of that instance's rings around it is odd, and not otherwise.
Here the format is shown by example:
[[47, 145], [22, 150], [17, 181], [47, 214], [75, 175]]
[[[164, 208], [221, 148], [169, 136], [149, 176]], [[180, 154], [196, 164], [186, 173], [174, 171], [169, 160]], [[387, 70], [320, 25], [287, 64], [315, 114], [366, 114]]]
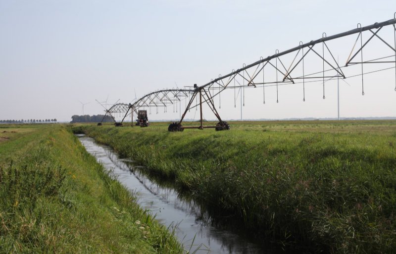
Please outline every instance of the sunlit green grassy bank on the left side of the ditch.
[[182, 253], [66, 127], [0, 137], [0, 253]]

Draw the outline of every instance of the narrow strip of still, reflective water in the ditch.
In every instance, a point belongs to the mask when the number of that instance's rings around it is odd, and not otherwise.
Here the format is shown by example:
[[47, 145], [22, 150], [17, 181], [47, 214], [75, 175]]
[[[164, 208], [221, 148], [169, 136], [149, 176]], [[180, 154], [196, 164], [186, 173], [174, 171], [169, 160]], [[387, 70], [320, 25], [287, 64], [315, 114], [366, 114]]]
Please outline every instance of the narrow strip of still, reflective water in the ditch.
[[85, 135], [77, 135], [87, 152], [112, 173], [119, 182], [135, 193], [142, 208], [156, 214], [159, 223], [175, 229], [185, 249], [197, 254], [274, 254], [237, 229], [213, 223], [210, 215], [193, 200], [183, 197], [169, 185], [150, 180], [144, 167], [120, 158], [108, 146], [100, 145]]

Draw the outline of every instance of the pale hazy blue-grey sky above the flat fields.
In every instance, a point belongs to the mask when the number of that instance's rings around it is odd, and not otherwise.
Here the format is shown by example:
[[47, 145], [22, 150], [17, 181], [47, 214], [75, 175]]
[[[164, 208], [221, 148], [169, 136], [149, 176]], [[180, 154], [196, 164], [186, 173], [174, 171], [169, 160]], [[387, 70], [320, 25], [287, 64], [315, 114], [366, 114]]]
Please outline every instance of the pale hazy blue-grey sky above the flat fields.
[[[95, 99], [130, 102], [135, 90], [140, 97], [202, 85], [276, 49], [389, 20], [395, 11], [395, 0], [0, 0], [0, 119], [70, 121], [82, 114], [79, 101], [89, 102], [86, 114], [100, 114]], [[391, 27], [384, 36], [393, 39]], [[340, 64], [354, 40], [333, 45]], [[347, 81], [342, 117], [396, 116], [395, 69], [367, 76], [365, 96], [359, 78]], [[244, 117], [337, 117], [337, 83], [326, 85], [326, 100], [315, 84], [306, 87], [306, 102], [299, 85], [281, 88], [280, 103], [269, 88], [265, 105], [255, 96], [261, 90], [249, 91]], [[240, 117], [233, 97], [222, 97], [225, 119]]]

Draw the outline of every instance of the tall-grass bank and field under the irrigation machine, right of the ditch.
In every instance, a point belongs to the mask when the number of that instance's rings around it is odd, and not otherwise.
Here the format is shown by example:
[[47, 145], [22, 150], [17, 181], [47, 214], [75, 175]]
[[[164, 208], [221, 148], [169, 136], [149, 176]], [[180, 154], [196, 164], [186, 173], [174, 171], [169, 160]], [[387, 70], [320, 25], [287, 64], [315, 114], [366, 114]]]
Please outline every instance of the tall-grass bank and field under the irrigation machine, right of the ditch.
[[232, 123], [230, 131], [79, 126], [286, 246], [396, 250], [396, 122]]

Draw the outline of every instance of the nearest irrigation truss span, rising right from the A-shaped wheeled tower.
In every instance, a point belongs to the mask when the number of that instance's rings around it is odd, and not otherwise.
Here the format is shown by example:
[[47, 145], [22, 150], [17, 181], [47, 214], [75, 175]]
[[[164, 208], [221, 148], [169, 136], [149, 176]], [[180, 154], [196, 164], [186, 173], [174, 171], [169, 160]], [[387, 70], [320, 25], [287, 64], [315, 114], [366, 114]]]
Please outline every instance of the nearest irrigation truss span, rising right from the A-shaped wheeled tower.
[[[363, 90], [363, 75], [368, 74], [363, 72], [363, 65], [365, 64], [393, 64], [385, 69], [392, 69], [396, 67], [396, 18], [381, 22], [375, 23], [370, 26], [361, 27], [358, 24], [356, 29], [333, 35], [326, 36], [323, 33], [322, 38], [310, 41], [309, 43], [303, 44], [299, 43], [299, 46], [279, 52], [278, 50], [274, 55], [268, 56], [266, 58], [261, 57], [260, 60], [249, 64], [243, 65], [241, 69], [233, 70], [231, 73], [221, 76], [218, 78], [211, 80], [207, 84], [200, 87], [200, 89], [205, 88], [207, 91], [212, 91], [211, 98], [215, 96], [220, 96], [220, 93], [225, 89], [230, 88], [245, 88], [245, 87], [262, 87], [265, 86], [276, 86], [284, 85], [284, 84], [295, 84], [302, 83], [303, 85], [308, 82], [317, 82], [321, 81], [323, 84], [323, 99], [325, 98], [325, 83], [326, 81], [334, 78], [348, 78], [344, 73], [343, 69], [347, 66], [360, 64], [361, 65], [361, 73], [358, 75], [362, 76], [362, 94], [364, 95]], [[380, 36], [380, 31], [383, 30], [384, 27], [390, 26], [394, 34], [394, 40], [392, 42], [387, 42], [384, 38]], [[389, 30], [388, 30], [389, 32]], [[365, 34], [366, 40], [363, 40], [363, 34]], [[369, 34], [367, 36], [366, 34]], [[347, 57], [347, 62], [344, 66], [340, 66], [338, 61], [335, 59], [334, 54], [332, 53], [330, 47], [327, 42], [336, 40], [339, 38], [357, 35], [354, 45]], [[373, 38], [377, 38], [382, 42], [382, 46], [389, 48], [392, 53], [385, 57], [375, 57], [372, 59], [363, 59], [363, 51], [364, 48], [373, 41]], [[320, 59], [322, 63], [322, 69], [319, 72], [309, 73], [306, 71], [307, 56], [314, 55], [318, 59]], [[285, 62], [281, 59], [282, 56], [292, 55], [292, 60], [289, 62]], [[264, 75], [264, 70], [272, 69], [274, 75], [270, 78], [267, 78]], [[296, 69], [302, 69], [302, 73], [297, 75]], [[380, 69], [377, 71], [385, 70]], [[357, 75], [353, 75], [357, 76]], [[396, 69], [395, 69], [396, 76]], [[350, 76], [351, 77], [351, 76]], [[242, 80], [242, 81], [241, 81]], [[304, 86], [303, 86], [304, 87]], [[396, 91], [396, 85], [395, 85]], [[264, 93], [264, 91], [263, 91]], [[278, 90], [277, 90], [278, 97]], [[278, 101], [278, 99], [277, 99]], [[265, 102], [265, 99], [264, 99]]]

